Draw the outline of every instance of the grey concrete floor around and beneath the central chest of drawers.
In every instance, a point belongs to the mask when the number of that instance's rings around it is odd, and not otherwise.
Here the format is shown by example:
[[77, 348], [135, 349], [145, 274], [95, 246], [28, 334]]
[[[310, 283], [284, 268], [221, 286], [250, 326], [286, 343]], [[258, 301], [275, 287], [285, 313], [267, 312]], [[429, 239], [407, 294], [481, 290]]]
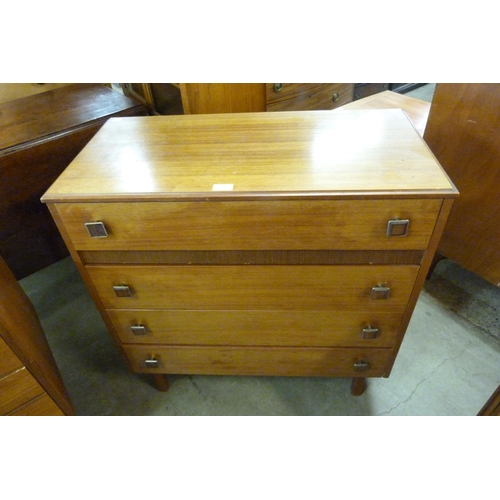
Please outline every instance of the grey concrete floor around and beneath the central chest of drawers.
[[[432, 99], [433, 84], [410, 95]], [[387, 379], [129, 373], [72, 261], [23, 280], [77, 415], [473, 416], [500, 384], [500, 288], [444, 260], [427, 280]]]

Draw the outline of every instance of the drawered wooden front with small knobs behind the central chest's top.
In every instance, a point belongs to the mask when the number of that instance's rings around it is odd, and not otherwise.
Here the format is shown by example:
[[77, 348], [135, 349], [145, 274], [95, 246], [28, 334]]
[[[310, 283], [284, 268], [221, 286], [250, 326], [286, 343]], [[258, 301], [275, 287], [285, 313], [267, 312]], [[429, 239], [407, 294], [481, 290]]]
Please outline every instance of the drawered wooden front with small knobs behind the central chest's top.
[[353, 94], [352, 83], [266, 83], [267, 111], [334, 109]]

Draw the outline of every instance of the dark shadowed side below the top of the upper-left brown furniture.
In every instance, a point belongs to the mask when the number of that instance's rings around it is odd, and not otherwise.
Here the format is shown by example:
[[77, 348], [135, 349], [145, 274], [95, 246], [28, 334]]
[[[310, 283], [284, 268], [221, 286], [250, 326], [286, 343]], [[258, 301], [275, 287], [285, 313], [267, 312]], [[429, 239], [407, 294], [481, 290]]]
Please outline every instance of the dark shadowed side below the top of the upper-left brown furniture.
[[68, 255], [40, 198], [97, 130], [89, 127], [0, 157], [0, 254], [17, 279]]

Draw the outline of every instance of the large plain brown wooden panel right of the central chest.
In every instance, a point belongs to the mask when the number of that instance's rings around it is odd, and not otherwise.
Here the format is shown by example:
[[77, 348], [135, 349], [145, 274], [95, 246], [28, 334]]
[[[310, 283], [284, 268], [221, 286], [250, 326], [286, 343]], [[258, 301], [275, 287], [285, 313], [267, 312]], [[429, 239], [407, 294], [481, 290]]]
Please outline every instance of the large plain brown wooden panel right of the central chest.
[[438, 252], [500, 286], [500, 84], [439, 83], [424, 139], [460, 191]]

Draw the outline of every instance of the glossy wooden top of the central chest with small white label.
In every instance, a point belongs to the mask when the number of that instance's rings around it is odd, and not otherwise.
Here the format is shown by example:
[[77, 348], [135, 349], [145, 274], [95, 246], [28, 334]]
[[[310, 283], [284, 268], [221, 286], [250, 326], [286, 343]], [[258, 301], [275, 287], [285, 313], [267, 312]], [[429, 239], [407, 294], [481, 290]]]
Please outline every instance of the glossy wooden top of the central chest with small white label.
[[55, 201], [456, 196], [401, 110], [112, 118]]

